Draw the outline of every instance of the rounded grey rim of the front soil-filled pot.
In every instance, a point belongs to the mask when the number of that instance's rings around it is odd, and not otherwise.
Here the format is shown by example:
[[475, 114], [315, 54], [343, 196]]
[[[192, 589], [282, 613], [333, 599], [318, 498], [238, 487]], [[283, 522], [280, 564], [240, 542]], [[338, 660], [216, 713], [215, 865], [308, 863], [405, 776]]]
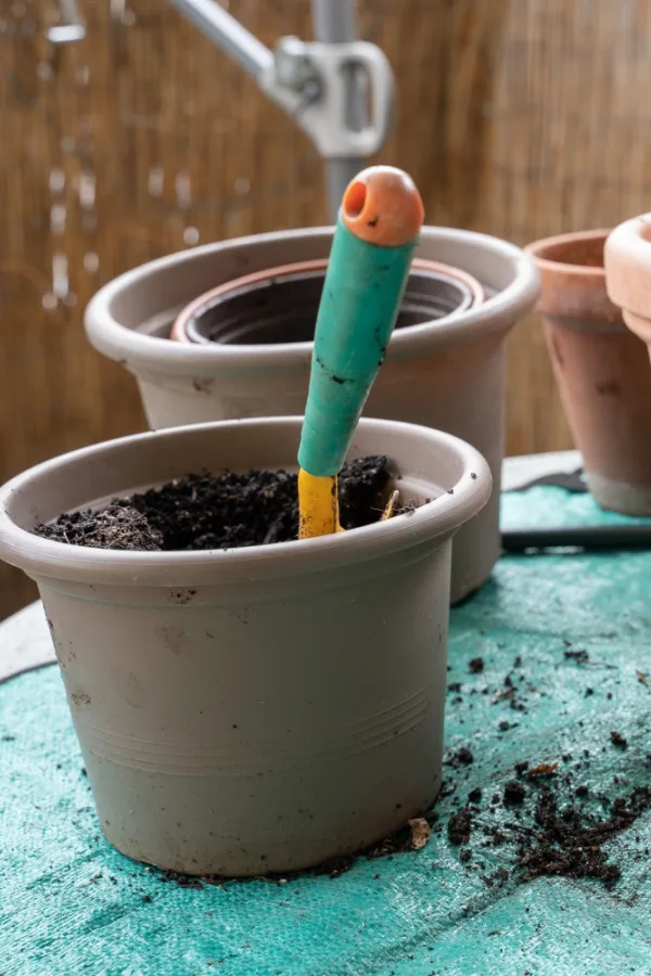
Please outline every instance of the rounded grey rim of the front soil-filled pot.
[[[108, 583], [129, 587], [169, 587], [216, 585], [239, 580], [266, 579], [317, 573], [387, 556], [419, 543], [451, 536], [457, 528], [476, 514], [488, 501], [492, 476], [482, 454], [465, 441], [430, 427], [398, 421], [362, 418], [358, 431], [384, 432], [400, 435], [427, 446], [447, 448], [462, 462], [462, 473], [454, 486], [454, 493], [444, 492], [409, 515], [398, 515], [383, 523], [365, 526], [336, 536], [318, 539], [265, 544], [245, 549], [206, 550], [199, 552], [132, 552], [98, 550], [68, 545], [35, 536], [22, 528], [10, 514], [16, 495], [28, 488], [36, 478], [50, 476], [58, 468], [68, 477], [75, 467], [90, 459], [95, 463], [107, 460], [116, 448], [131, 446], [157, 450], [162, 444], [174, 445], [197, 433], [254, 427], [273, 431], [288, 428], [299, 432], [301, 416], [259, 418], [253, 420], [217, 421], [191, 426], [169, 427], [132, 434], [114, 440], [80, 448], [50, 461], [44, 461], [15, 476], [0, 488], [0, 557], [37, 578], [54, 578], [79, 583]], [[387, 445], [391, 457], [391, 446]], [[184, 472], [186, 473], [186, 472]], [[128, 489], [126, 489], [128, 490]], [[136, 486], [133, 488], [136, 489]]]

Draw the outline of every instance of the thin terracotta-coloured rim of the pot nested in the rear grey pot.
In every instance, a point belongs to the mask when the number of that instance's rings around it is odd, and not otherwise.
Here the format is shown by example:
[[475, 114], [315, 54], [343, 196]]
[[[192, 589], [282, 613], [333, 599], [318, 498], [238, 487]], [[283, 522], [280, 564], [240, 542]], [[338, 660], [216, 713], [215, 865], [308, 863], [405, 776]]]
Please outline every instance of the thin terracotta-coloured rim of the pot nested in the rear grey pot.
[[[204, 310], [206, 310], [206, 306], [210, 306], [216, 298], [228, 295], [229, 292], [237, 292], [239, 288], [261, 284], [271, 279], [290, 278], [292, 274], [307, 273], [309, 271], [326, 271], [328, 261], [329, 259], [327, 257], [312, 258], [307, 261], [291, 261], [286, 265], [276, 265], [271, 268], [264, 268], [260, 271], [253, 271], [251, 274], [243, 274], [241, 278], [233, 278], [230, 281], [225, 281], [220, 285], [204, 292], [197, 298], [194, 298], [184, 306], [173, 322], [169, 338], [177, 343], [193, 342], [188, 336], [189, 323], [192, 319], [196, 319]], [[481, 283], [462, 268], [454, 268], [451, 265], [445, 265], [442, 261], [431, 261], [424, 258], [414, 258], [411, 262], [411, 268], [417, 271], [429, 271], [433, 275], [447, 278], [458, 285], [461, 285], [468, 293], [465, 297], [465, 301], [469, 303], [467, 306], [468, 308], [472, 308], [475, 304], [478, 305], [485, 298], [485, 292]], [[467, 309], [464, 307], [461, 310], [465, 311]], [[459, 309], [455, 309], [452, 312], [449, 312], [448, 316], [454, 316], [458, 313], [458, 311]], [[436, 321], [441, 325], [443, 319], [447, 319], [448, 316], [442, 316], [441, 319], [437, 319]], [[261, 352], [276, 345], [278, 345], [278, 343], [252, 343], [246, 344], [246, 348]], [[311, 343], [285, 343], [284, 345], [311, 345]]]

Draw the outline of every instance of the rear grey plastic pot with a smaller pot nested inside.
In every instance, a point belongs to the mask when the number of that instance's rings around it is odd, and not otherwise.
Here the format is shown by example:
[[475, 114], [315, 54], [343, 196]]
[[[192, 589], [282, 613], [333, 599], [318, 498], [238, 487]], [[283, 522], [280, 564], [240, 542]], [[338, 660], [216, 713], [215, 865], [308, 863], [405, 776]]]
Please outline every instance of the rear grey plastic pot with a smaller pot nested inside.
[[[281, 231], [186, 251], [105, 285], [86, 312], [92, 345], [138, 381], [152, 427], [302, 413], [311, 342], [238, 345], [167, 338], [179, 311], [210, 288], [267, 268], [326, 258], [331, 228]], [[419, 258], [460, 268], [486, 300], [445, 320], [396, 330], [365, 414], [424, 424], [486, 458], [495, 491], [455, 540], [451, 600], [489, 577], [499, 556], [506, 337], [538, 296], [534, 260], [471, 231], [426, 227]]]

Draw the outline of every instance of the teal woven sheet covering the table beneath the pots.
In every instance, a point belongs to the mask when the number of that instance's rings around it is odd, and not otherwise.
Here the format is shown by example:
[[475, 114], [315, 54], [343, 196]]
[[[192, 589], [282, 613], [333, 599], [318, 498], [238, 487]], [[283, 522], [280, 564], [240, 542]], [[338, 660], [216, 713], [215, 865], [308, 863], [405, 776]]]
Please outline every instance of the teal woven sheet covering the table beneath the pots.
[[[510, 524], [599, 517], [607, 516], [589, 497], [549, 488], [505, 502]], [[585, 648], [590, 664], [565, 658], [563, 640]], [[485, 669], [472, 675], [469, 660], [480, 655]], [[495, 694], [516, 655], [531, 689], [527, 715]], [[475, 757], [461, 795], [478, 785], [490, 796], [514, 762], [557, 760], [584, 747], [591, 752], [585, 782], [596, 791], [651, 782], [651, 688], [636, 675], [651, 672], [651, 554], [502, 560], [484, 590], [452, 612], [450, 663], [449, 681], [461, 682], [463, 694], [460, 702], [448, 695], [447, 745], [470, 745]], [[516, 728], [500, 732], [505, 719]], [[613, 729], [627, 736], [626, 752], [611, 746]], [[193, 890], [111, 849], [80, 767], [56, 670], [1, 686], [3, 976], [651, 972], [649, 814], [609, 848], [623, 870], [612, 890], [546, 878], [487, 888], [459, 863], [445, 832], [422, 851], [360, 860], [334, 879]], [[613, 785], [615, 774], [625, 787]], [[446, 776], [458, 783], [461, 773]], [[442, 819], [450, 810], [451, 797], [442, 799]], [[513, 864], [508, 847], [482, 858], [495, 868]]]

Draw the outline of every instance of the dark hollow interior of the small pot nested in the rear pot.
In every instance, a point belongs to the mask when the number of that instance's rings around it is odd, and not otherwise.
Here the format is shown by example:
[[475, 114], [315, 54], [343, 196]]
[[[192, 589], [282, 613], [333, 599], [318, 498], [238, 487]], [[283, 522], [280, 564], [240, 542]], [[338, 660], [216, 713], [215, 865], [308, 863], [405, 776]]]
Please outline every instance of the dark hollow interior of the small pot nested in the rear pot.
[[[230, 345], [311, 342], [324, 279], [324, 269], [302, 270], [216, 296], [188, 320], [188, 338]], [[473, 299], [464, 282], [412, 269], [396, 329], [464, 311]]]

